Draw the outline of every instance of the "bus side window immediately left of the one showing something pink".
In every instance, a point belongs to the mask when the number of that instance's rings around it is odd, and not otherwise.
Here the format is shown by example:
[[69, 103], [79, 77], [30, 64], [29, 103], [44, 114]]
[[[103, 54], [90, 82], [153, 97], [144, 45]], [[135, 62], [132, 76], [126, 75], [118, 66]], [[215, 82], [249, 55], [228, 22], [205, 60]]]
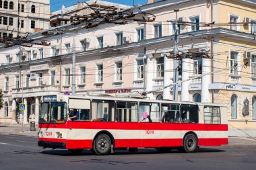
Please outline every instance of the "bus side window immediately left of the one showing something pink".
[[137, 121], [137, 103], [117, 101], [117, 122]]

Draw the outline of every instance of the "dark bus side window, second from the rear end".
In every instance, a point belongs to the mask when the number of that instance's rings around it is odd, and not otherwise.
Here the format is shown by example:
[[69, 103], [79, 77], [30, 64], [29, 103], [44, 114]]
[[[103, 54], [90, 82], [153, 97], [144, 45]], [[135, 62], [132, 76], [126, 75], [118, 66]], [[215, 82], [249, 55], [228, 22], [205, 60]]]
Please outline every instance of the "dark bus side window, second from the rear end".
[[198, 123], [198, 106], [181, 105], [181, 121], [183, 123]]

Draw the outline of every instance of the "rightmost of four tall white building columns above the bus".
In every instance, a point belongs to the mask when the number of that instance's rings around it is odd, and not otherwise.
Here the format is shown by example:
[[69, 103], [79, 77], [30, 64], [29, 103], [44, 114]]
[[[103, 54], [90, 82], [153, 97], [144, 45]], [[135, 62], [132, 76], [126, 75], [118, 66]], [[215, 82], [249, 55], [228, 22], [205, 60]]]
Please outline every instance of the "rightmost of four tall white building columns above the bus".
[[210, 59], [208, 58], [203, 58], [203, 69], [202, 73], [208, 74], [204, 75], [201, 78], [201, 102], [202, 103], [209, 103], [210, 101], [210, 92], [209, 92], [209, 84], [210, 82]]

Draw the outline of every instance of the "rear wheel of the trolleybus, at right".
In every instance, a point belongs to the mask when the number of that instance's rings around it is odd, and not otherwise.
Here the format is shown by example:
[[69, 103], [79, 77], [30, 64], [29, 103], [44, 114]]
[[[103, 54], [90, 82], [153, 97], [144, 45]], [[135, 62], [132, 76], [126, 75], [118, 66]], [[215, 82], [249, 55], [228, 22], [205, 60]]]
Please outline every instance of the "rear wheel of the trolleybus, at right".
[[197, 137], [194, 134], [187, 134], [183, 140], [183, 148], [186, 153], [194, 153], [197, 151]]

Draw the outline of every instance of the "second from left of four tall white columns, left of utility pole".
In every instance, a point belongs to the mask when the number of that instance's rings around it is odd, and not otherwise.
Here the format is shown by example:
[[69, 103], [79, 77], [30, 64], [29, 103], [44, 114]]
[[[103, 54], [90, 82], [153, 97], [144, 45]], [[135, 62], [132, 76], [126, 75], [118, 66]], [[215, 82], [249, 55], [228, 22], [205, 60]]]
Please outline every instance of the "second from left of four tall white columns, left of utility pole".
[[[170, 85], [171, 77], [171, 59], [167, 56], [164, 56], [164, 87], [166, 85]], [[170, 86], [166, 87], [163, 91], [163, 98], [164, 99], [170, 99]]]

